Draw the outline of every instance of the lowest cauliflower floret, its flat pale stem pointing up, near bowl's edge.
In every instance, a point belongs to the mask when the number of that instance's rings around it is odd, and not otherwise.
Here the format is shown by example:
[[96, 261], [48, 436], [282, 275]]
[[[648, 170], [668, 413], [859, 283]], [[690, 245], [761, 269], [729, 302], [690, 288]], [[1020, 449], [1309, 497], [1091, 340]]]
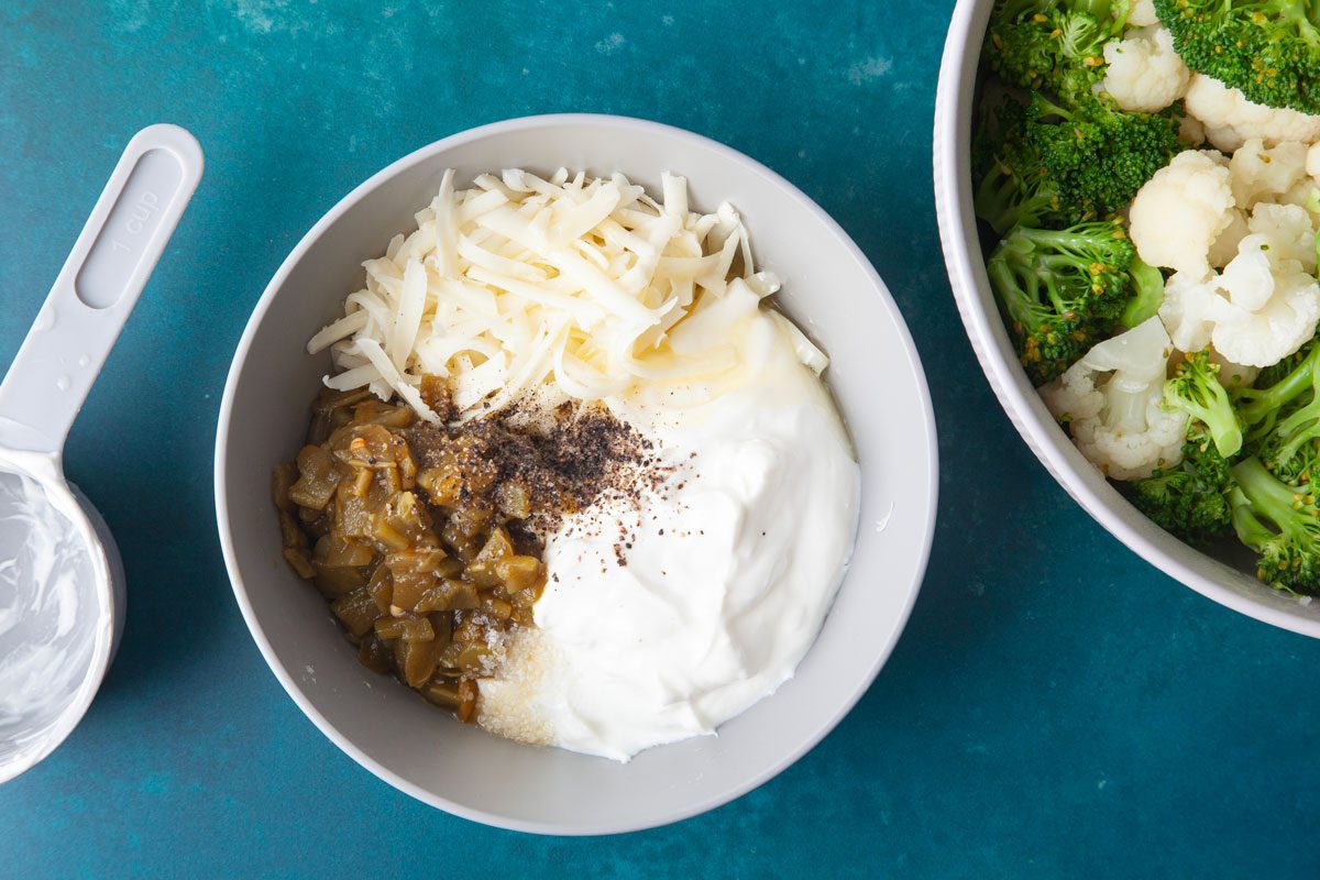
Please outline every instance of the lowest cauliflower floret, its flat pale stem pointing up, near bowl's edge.
[[1163, 406], [1173, 348], [1159, 318], [1107, 339], [1040, 389], [1055, 418], [1106, 476], [1139, 480], [1181, 460], [1187, 413]]

